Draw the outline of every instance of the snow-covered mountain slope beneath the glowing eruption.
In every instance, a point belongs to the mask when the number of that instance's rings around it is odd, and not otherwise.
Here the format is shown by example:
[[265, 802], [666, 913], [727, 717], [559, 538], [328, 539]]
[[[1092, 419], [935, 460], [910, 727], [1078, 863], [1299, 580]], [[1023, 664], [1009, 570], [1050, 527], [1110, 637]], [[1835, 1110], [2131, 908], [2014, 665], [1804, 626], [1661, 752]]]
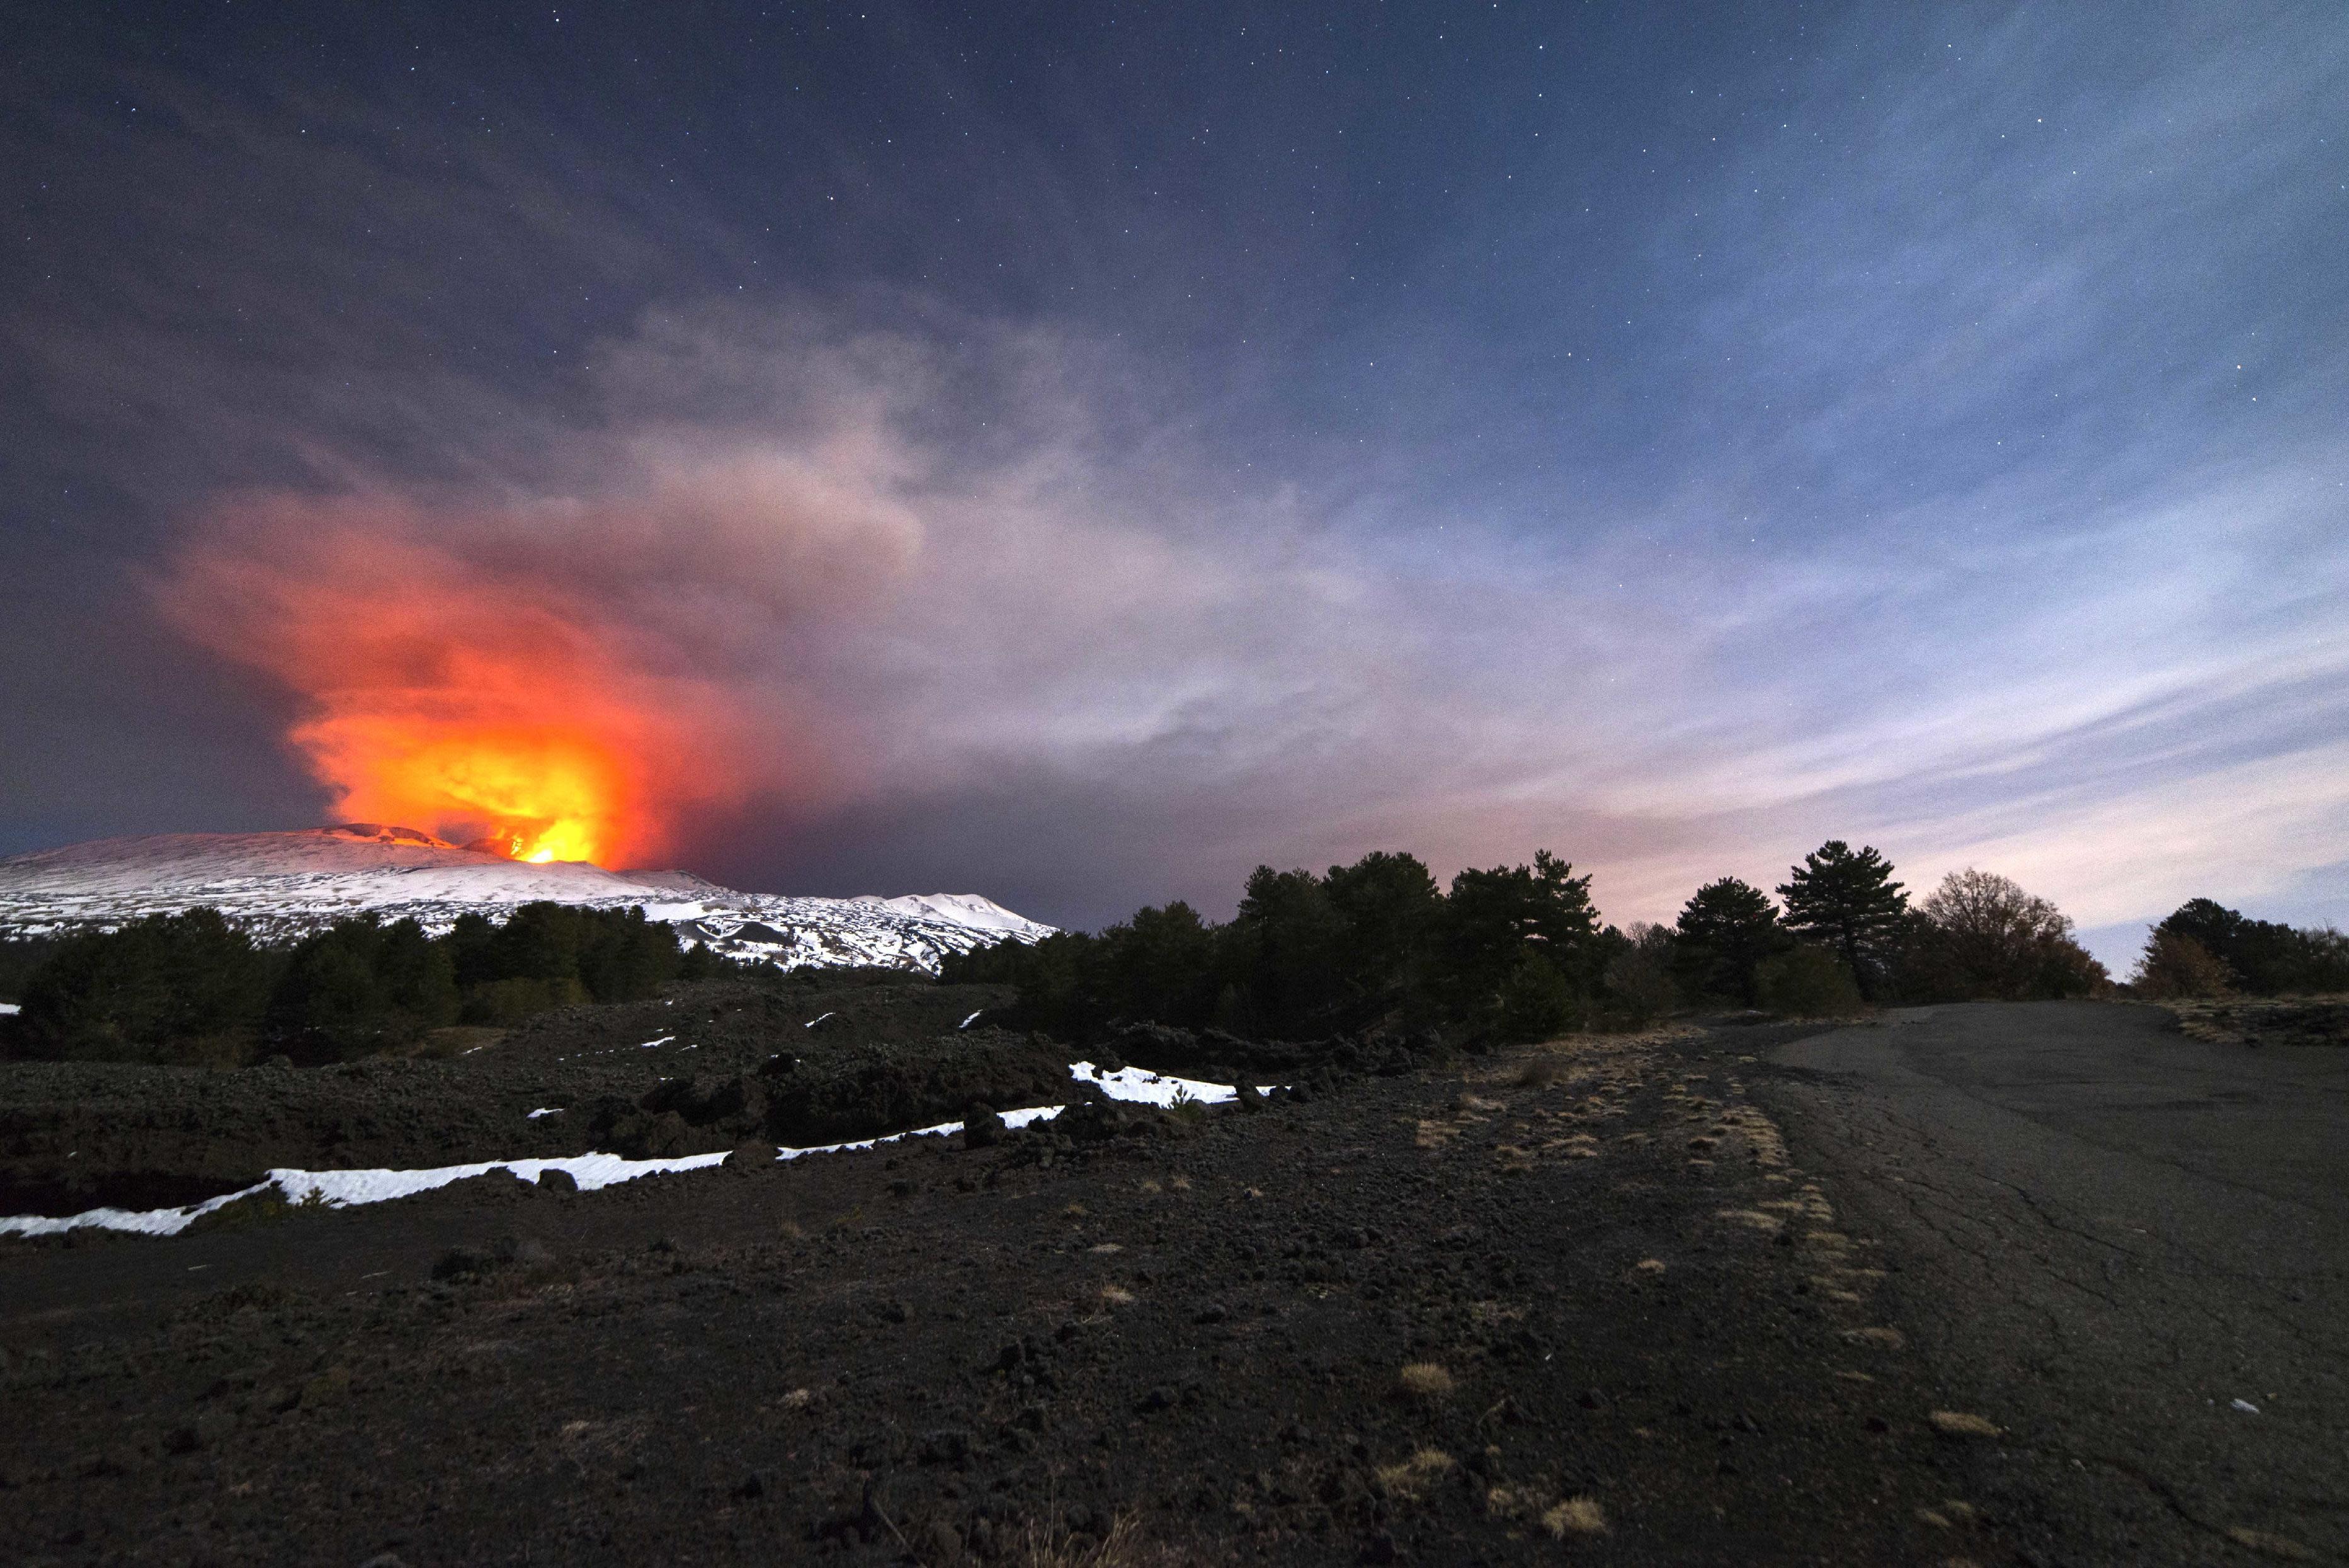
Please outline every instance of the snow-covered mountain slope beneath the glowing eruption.
[[498, 920], [536, 899], [592, 908], [637, 904], [648, 918], [674, 922], [686, 941], [787, 969], [937, 969], [944, 953], [1052, 932], [970, 892], [792, 899], [735, 892], [691, 871], [531, 866], [369, 822], [296, 833], [106, 838], [0, 859], [5, 937], [113, 927], [197, 906], [218, 908], [263, 941], [289, 941], [366, 911], [385, 920], [416, 918], [442, 932], [458, 915]]

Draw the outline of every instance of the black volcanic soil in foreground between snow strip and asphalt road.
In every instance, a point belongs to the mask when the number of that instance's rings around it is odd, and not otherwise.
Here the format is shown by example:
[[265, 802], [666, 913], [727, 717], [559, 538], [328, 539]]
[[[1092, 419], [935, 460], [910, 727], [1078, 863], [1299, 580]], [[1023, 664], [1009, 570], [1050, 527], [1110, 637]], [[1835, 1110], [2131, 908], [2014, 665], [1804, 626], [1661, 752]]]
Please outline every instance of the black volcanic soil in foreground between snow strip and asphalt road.
[[[2001, 1446], [1933, 1425], [1964, 1401], [1903, 1352], [1896, 1261], [1748, 1101], [1766, 1033], [0, 1244], [0, 1540], [378, 1568], [2032, 1561], [1968, 1507]], [[580, 1099], [554, 1054], [498, 1108], [517, 1131], [540, 1087]]]

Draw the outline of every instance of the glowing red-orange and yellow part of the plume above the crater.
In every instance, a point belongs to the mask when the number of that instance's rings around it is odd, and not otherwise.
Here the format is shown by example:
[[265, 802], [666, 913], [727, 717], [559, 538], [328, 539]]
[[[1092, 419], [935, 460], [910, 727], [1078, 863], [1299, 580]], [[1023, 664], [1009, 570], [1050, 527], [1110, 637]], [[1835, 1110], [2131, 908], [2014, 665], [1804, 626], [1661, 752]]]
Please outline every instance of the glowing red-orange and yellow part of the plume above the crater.
[[684, 812], [740, 800], [754, 725], [583, 594], [397, 528], [247, 519], [162, 584], [200, 641], [301, 697], [289, 739], [341, 819], [493, 840], [524, 861], [644, 864]]

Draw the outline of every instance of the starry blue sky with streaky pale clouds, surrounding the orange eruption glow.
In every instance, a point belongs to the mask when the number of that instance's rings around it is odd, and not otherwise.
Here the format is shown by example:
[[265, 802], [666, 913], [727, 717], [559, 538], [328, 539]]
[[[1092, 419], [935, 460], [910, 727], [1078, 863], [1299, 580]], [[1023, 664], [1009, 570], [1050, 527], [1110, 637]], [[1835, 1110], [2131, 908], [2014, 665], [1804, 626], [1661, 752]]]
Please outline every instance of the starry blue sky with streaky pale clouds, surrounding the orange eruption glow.
[[2337, 5], [0, 47], [0, 852], [324, 819], [186, 563], [362, 519], [759, 730], [672, 854], [742, 887], [1555, 847], [1635, 920], [1837, 836], [2116, 967], [2194, 894], [2349, 922]]

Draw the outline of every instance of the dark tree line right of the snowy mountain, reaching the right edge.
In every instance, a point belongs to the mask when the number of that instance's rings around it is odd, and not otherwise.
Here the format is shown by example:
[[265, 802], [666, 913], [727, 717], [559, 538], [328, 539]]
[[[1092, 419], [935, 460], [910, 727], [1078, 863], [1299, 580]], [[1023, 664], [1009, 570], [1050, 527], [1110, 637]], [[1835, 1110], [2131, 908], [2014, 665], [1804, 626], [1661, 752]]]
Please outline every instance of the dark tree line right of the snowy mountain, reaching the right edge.
[[[1381, 850], [1322, 876], [1259, 866], [1229, 922], [1177, 901], [1092, 934], [949, 958], [947, 979], [1012, 984], [1019, 1000], [1005, 1021], [1069, 1040], [1151, 1021], [1268, 1040], [1381, 1028], [1478, 1045], [1677, 1009], [1835, 1016], [2112, 991], [2072, 930], [2048, 899], [1990, 871], [1954, 871], [1912, 904], [1884, 854], [1844, 840], [1804, 854], [1776, 899], [1719, 878], [1675, 922], [1628, 930], [1604, 925], [1590, 878], [1548, 850], [1532, 866], [1461, 871], [1449, 887], [1416, 857]], [[2349, 986], [2340, 937], [2250, 922], [2208, 899], [2156, 930], [2166, 953], [2192, 960], [2185, 941], [2210, 955], [2192, 984], [2304, 988], [2330, 974]], [[2335, 967], [2311, 953], [2333, 953]], [[2142, 991], [2178, 993], [2163, 991], [2178, 958], [2163, 965], [2149, 981], [2140, 965]]]

